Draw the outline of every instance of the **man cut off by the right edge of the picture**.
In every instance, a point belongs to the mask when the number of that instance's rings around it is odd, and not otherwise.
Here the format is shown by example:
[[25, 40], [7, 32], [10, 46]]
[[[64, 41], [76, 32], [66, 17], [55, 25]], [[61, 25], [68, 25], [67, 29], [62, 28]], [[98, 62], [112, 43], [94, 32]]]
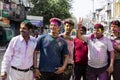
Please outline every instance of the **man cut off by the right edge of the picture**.
[[114, 71], [112, 75], [113, 80], [120, 80], [120, 22], [118, 20], [111, 22], [111, 30], [113, 32], [111, 40], [115, 49]]

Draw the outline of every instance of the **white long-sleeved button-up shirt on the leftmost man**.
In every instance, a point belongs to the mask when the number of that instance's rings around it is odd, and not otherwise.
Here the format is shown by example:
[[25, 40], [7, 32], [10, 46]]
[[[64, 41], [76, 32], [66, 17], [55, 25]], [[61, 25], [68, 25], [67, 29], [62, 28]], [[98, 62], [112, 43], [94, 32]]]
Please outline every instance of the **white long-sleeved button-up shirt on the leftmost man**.
[[1, 72], [6, 72], [7, 67], [14, 66], [20, 69], [27, 69], [33, 65], [33, 53], [37, 41], [30, 36], [26, 44], [22, 35], [13, 37], [3, 57]]

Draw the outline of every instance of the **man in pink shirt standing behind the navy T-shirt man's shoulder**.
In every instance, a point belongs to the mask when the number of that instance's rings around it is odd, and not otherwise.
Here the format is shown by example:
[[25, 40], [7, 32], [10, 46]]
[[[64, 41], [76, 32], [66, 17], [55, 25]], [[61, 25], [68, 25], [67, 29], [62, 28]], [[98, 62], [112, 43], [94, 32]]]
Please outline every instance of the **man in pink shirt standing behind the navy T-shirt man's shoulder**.
[[74, 60], [73, 60], [74, 42], [73, 42], [73, 38], [71, 37], [71, 32], [74, 28], [74, 22], [72, 19], [65, 19], [63, 23], [64, 23], [64, 33], [60, 34], [60, 36], [64, 38], [65, 41], [67, 42], [67, 47], [69, 51], [69, 60], [68, 60], [67, 68], [63, 72], [62, 80], [70, 80], [70, 78], [73, 75], [73, 65], [74, 65]]

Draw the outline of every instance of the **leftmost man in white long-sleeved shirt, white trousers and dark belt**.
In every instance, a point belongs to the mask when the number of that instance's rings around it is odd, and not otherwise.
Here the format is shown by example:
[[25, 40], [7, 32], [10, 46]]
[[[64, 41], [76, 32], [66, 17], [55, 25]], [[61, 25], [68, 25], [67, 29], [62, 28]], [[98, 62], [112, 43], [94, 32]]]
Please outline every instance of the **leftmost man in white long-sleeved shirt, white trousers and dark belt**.
[[31, 28], [30, 22], [21, 22], [20, 35], [10, 41], [2, 61], [2, 80], [7, 78], [9, 63], [9, 80], [33, 80], [33, 56], [37, 41], [29, 35]]

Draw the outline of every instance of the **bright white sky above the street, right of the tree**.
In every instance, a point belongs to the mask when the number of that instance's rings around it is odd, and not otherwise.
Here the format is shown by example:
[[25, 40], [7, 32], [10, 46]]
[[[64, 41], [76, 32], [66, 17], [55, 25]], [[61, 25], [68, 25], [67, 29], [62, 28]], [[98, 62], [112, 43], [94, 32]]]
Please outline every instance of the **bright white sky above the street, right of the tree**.
[[[94, 0], [94, 11], [101, 6], [102, 1]], [[85, 17], [88, 13], [93, 12], [93, 0], [73, 0], [71, 12], [77, 20], [79, 17]]]

